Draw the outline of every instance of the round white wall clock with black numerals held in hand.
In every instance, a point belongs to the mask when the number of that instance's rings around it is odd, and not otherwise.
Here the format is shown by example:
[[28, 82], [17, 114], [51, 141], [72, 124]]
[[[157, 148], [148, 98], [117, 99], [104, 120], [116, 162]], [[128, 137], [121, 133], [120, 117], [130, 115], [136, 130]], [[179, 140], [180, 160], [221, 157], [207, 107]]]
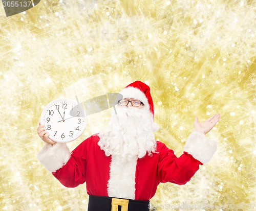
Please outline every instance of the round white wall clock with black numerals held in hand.
[[44, 108], [40, 123], [45, 125], [49, 137], [55, 142], [71, 142], [86, 128], [86, 115], [77, 102], [57, 99]]

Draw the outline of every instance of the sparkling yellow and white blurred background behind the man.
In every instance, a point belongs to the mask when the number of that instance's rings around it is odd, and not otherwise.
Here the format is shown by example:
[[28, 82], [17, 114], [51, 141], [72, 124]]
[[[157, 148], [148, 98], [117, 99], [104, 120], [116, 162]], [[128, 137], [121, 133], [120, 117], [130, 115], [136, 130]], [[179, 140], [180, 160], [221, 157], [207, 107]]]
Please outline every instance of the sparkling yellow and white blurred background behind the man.
[[[160, 184], [152, 209], [256, 210], [255, 4], [41, 0], [6, 17], [0, 3], [0, 209], [87, 210], [86, 184], [62, 186], [36, 157], [41, 111], [141, 80], [151, 87], [156, 138], [177, 156], [195, 116], [221, 114], [207, 134], [218, 140], [215, 156], [187, 184]], [[104, 131], [112, 109], [88, 115], [69, 148]]]

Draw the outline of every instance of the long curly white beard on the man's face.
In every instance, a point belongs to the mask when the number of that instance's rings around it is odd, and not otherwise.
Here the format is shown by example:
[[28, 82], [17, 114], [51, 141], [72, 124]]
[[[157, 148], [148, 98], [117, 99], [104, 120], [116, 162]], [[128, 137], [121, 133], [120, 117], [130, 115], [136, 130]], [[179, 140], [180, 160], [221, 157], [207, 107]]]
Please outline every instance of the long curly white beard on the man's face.
[[119, 162], [151, 155], [156, 149], [154, 131], [158, 125], [145, 107], [115, 106], [108, 129], [100, 133], [98, 145], [106, 156], [114, 156]]

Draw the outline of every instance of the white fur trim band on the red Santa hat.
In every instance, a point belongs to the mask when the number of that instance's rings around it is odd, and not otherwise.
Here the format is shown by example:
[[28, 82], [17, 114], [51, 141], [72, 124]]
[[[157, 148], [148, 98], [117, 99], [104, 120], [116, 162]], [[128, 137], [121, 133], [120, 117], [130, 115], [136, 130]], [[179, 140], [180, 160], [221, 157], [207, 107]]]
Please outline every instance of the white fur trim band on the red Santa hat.
[[136, 100], [140, 100], [145, 105], [145, 107], [147, 109], [150, 109], [150, 105], [147, 102], [147, 98], [146, 98], [145, 94], [138, 88], [129, 86], [129, 87], [124, 88], [120, 92], [120, 94], [123, 96], [123, 99], [124, 98], [128, 98], [128, 99], [134, 98]]

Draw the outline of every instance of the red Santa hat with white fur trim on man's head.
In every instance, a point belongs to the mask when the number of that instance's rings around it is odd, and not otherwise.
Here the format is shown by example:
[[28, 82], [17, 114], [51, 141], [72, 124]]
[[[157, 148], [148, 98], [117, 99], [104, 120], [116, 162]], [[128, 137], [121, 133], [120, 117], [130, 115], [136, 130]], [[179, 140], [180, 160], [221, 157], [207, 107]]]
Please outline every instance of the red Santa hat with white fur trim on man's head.
[[124, 98], [134, 98], [140, 100], [154, 116], [154, 103], [150, 93], [150, 87], [141, 81], [135, 81], [127, 85], [120, 94]]

